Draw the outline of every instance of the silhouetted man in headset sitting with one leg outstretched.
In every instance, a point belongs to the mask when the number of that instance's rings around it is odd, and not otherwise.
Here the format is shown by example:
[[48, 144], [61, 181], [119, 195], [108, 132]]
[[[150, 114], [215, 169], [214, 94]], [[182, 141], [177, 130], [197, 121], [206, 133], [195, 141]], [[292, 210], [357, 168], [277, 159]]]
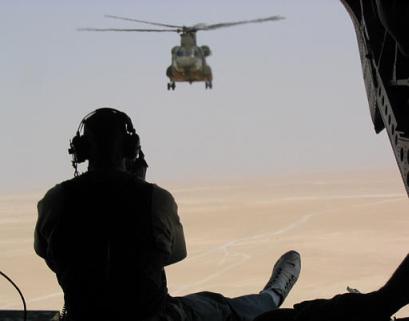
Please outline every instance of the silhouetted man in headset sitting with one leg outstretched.
[[70, 153], [76, 174], [86, 160], [88, 171], [47, 192], [35, 229], [35, 250], [56, 273], [68, 320], [250, 321], [280, 306], [295, 284], [300, 256], [290, 251], [258, 294], [171, 297], [164, 267], [186, 257], [183, 228], [172, 195], [144, 180], [130, 118], [110, 108], [92, 112]]

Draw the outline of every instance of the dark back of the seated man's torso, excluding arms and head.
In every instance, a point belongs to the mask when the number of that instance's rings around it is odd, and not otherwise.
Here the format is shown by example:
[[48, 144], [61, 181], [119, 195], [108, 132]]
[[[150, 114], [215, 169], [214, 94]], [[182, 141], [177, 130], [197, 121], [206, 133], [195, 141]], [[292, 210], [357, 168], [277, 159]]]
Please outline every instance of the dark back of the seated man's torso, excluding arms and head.
[[46, 256], [74, 319], [132, 319], [118, 315], [126, 310], [143, 319], [163, 306], [165, 258], [154, 243], [151, 202], [152, 185], [121, 171], [87, 172], [40, 202], [57, 216]]

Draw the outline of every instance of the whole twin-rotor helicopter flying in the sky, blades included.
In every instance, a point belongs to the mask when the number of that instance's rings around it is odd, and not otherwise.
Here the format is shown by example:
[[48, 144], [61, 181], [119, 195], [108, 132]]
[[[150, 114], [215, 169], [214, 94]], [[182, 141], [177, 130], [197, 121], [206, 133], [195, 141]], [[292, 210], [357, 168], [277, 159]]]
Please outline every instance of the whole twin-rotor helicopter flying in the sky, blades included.
[[211, 51], [208, 46], [198, 46], [196, 42], [196, 32], [205, 30], [215, 30], [220, 28], [232, 27], [249, 23], [261, 23], [267, 21], [277, 21], [284, 19], [281, 16], [271, 16], [252, 20], [242, 20], [234, 22], [222, 22], [216, 24], [196, 24], [191, 27], [170, 25], [164, 23], [150, 22], [132, 18], [106, 15], [106, 18], [126, 20], [149, 24], [154, 26], [166, 27], [166, 29], [100, 29], [100, 28], [80, 28], [79, 31], [124, 31], [124, 32], [177, 32], [180, 34], [180, 45], [172, 48], [172, 63], [166, 70], [170, 82], [168, 90], [175, 90], [176, 82], [204, 82], [206, 89], [213, 87], [213, 74], [206, 58], [210, 56]]

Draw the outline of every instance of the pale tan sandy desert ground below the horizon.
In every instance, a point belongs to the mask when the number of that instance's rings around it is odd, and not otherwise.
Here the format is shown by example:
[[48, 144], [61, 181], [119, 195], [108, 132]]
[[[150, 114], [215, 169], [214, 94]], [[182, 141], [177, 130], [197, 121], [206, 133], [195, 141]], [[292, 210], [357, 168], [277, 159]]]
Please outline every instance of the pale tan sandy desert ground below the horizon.
[[[395, 169], [164, 187], [178, 201], [189, 251], [167, 268], [173, 295], [258, 292], [275, 260], [296, 249], [302, 273], [289, 307], [347, 286], [374, 290], [409, 252], [409, 203]], [[0, 196], [0, 270], [18, 283], [30, 309], [60, 309], [58, 284], [32, 250], [40, 196]], [[21, 308], [3, 279], [0, 308]]]

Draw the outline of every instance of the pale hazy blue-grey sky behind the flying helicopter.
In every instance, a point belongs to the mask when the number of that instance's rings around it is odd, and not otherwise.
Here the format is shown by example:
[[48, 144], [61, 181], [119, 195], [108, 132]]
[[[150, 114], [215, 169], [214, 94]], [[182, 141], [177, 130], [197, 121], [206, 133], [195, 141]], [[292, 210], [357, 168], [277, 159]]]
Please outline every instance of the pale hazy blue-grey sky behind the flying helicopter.
[[[166, 90], [172, 33], [79, 27], [287, 19], [198, 33], [214, 89]], [[369, 116], [355, 32], [335, 0], [19, 1], [1, 3], [0, 191], [72, 176], [68, 140], [103, 106], [134, 121], [149, 178], [195, 181], [311, 170], [395, 167]]]

